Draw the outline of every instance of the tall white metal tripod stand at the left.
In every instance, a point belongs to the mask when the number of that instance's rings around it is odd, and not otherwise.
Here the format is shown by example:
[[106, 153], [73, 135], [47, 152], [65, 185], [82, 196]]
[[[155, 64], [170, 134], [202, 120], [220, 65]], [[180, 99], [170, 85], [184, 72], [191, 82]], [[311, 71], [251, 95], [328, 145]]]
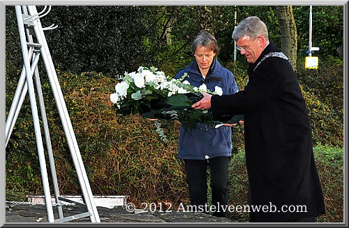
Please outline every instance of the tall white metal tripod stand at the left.
[[[36, 6], [15, 6], [18, 29], [20, 31], [20, 42], [22, 45], [22, 55], [24, 60], [24, 67], [20, 76], [20, 80], [17, 85], [17, 90], [15, 92], [15, 97], [13, 98], [13, 103], [8, 113], [6, 119], [6, 146], [10, 139], [10, 134], [13, 131], [15, 121], [20, 113], [20, 108], [22, 107], [24, 98], [29, 92], [29, 99], [31, 104], [31, 111], [34, 121], [34, 130], [36, 135], [36, 145], [38, 148], [38, 157], [40, 162], [41, 176], [43, 178], [43, 189], [45, 193], [45, 204], [47, 208], [47, 218], [49, 222], [67, 222], [70, 220], [75, 220], [79, 218], [89, 217], [91, 222], [101, 222], [96, 204], [94, 203], [94, 196], [91, 192], [91, 187], [89, 185], [89, 180], [87, 178], [86, 171], [84, 169], [84, 164], [80, 155], [80, 150], [77, 145], [75, 134], [73, 131], [72, 124], [70, 122], [70, 117], [68, 110], [66, 108], [66, 102], [64, 101], [63, 94], [61, 92], [61, 87], [57, 78], [56, 70], [52, 62], [52, 57], [50, 55], [50, 50], [48, 49], [46, 38], [44, 35], [44, 30], [54, 29], [53, 24], [50, 27], [43, 28], [41, 26], [40, 17], [47, 15], [50, 12], [51, 7], [45, 12], [45, 8], [38, 13]], [[36, 43], [34, 43], [34, 38], [36, 37]], [[70, 149], [70, 154], [73, 159], [75, 170], [77, 172], [77, 178], [79, 179], [80, 187], [82, 190], [84, 203], [87, 207], [86, 213], [81, 213], [78, 215], [73, 215], [69, 217], [64, 217], [61, 208], [61, 201], [68, 201], [59, 195], [59, 186], [57, 183], [57, 173], [54, 166], [54, 157], [52, 153], [52, 145], [50, 140], [50, 132], [47, 124], [47, 117], [45, 113], [45, 105], [43, 100], [43, 92], [41, 90], [40, 78], [38, 74], [38, 60], [40, 55], [43, 58], [47, 76], [50, 80], [50, 85], [52, 92], [54, 94], [54, 99], [57, 104], [59, 111], [59, 116], [61, 117], [61, 122], [64, 127], [64, 132], [68, 141], [68, 146]], [[54, 186], [54, 194], [57, 202], [59, 219], [54, 219], [54, 213], [52, 208], [51, 193], [49, 179], [47, 176], [45, 153], [43, 148], [43, 138], [40, 131], [40, 122], [38, 116], [38, 108], [36, 104], [36, 94], [34, 91], [34, 80], [35, 76], [36, 92], [38, 94], [38, 101], [40, 105], [40, 113], [43, 121], [43, 129], [45, 133], [45, 142], [47, 146], [47, 154], [50, 160], [50, 168], [52, 173], [52, 182]]]

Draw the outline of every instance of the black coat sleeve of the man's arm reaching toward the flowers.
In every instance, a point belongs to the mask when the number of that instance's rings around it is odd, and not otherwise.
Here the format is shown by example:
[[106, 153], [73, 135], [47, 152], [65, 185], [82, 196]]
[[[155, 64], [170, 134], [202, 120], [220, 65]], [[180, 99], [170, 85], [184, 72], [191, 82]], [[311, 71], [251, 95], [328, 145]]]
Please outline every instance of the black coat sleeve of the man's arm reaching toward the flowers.
[[251, 75], [245, 89], [231, 95], [212, 96], [214, 115], [240, 115], [258, 110], [276, 99], [283, 91], [285, 73], [292, 68], [278, 57], [269, 57]]

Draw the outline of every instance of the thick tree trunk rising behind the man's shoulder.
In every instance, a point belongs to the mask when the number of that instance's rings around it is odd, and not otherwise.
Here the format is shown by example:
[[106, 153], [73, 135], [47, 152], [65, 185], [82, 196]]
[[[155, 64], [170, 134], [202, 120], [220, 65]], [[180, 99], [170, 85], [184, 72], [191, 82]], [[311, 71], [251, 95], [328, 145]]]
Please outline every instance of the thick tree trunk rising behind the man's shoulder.
[[292, 6], [276, 6], [281, 31], [281, 51], [288, 57], [293, 69], [297, 64], [297, 27]]

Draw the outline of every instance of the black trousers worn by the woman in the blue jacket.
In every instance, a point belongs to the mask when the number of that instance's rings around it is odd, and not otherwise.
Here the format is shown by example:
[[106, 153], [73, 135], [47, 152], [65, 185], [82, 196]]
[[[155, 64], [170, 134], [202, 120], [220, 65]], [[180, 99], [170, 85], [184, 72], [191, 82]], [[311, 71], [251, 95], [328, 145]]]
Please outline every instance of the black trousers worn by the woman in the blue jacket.
[[[211, 205], [216, 206], [212, 215], [226, 217], [222, 206], [228, 204], [228, 165], [230, 157], [206, 160], [184, 159], [192, 206], [207, 205], [207, 166], [211, 173]], [[218, 210], [218, 205], [221, 206]]]

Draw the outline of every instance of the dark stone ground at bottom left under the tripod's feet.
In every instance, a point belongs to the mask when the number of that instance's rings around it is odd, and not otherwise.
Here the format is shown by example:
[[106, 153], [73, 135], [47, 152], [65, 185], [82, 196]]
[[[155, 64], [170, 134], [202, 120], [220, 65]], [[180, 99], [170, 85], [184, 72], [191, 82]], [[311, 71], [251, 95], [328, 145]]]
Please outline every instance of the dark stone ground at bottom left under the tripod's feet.
[[[54, 206], [54, 218], [59, 218], [57, 207]], [[77, 215], [87, 211], [85, 206], [62, 206], [64, 217], [71, 215]], [[97, 207], [98, 215], [101, 222], [235, 222], [228, 218], [216, 218], [205, 213], [190, 213], [184, 211], [172, 211], [170, 213], [164, 212], [144, 212], [144, 213], [131, 213], [126, 211], [124, 206], [115, 206], [114, 208]], [[47, 209], [45, 205], [13, 205], [6, 206], [6, 223], [13, 224], [17, 222], [24, 223], [36, 223], [47, 222]], [[80, 218], [79, 220], [72, 220], [70, 222], [91, 222], [89, 217]], [[65, 222], [66, 223], [66, 222]]]

